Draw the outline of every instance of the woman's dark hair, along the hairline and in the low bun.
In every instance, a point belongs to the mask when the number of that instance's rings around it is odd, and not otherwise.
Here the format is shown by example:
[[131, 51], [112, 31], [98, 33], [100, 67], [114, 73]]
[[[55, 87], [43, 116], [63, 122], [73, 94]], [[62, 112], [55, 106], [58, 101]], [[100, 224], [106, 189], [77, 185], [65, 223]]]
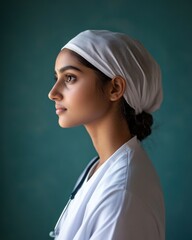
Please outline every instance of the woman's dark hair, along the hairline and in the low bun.
[[[101, 86], [103, 87], [104, 84], [106, 84], [108, 81], [111, 80], [110, 77], [106, 76], [104, 73], [102, 73], [99, 69], [97, 69], [95, 66], [93, 66], [91, 63], [89, 63], [87, 60], [85, 60], [83, 57], [81, 57], [76, 52], [70, 50], [70, 52], [77, 58], [77, 60], [84, 66], [93, 69], [99, 82], [101, 83]], [[129, 125], [129, 130], [131, 135], [137, 136], [137, 138], [142, 141], [147, 136], [151, 134], [151, 127], [153, 125], [153, 116], [150, 113], [146, 113], [143, 111], [142, 113], [135, 114], [135, 110], [129, 106], [129, 104], [126, 102], [124, 98], [122, 98], [121, 101], [121, 111], [125, 119], [127, 120], [127, 123]]]

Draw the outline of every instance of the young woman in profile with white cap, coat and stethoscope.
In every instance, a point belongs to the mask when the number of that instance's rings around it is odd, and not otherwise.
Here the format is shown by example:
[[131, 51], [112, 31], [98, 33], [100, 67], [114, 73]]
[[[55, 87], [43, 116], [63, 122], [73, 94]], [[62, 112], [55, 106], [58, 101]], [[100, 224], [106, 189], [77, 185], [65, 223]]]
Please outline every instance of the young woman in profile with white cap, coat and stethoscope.
[[55, 63], [49, 93], [59, 125], [84, 125], [98, 153], [50, 236], [57, 240], [163, 240], [158, 176], [140, 141], [162, 102], [158, 64], [122, 33], [87, 30]]

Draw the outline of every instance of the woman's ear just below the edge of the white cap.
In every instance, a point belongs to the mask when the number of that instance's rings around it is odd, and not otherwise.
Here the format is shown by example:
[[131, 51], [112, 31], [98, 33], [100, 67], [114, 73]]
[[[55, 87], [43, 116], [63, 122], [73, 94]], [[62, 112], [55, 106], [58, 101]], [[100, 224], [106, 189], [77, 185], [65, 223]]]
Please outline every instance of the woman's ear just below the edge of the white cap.
[[117, 101], [119, 100], [126, 88], [126, 81], [121, 76], [116, 76], [111, 80], [110, 85], [110, 100], [111, 101]]

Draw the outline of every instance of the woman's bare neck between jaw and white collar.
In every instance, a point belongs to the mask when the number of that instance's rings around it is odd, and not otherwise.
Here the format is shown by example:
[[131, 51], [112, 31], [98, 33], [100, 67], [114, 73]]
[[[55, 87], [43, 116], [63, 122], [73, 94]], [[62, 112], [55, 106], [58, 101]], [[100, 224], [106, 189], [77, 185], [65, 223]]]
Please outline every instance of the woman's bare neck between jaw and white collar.
[[[119, 147], [131, 139], [128, 124], [123, 117], [106, 117], [85, 125], [102, 165]], [[97, 168], [98, 168], [97, 167]]]

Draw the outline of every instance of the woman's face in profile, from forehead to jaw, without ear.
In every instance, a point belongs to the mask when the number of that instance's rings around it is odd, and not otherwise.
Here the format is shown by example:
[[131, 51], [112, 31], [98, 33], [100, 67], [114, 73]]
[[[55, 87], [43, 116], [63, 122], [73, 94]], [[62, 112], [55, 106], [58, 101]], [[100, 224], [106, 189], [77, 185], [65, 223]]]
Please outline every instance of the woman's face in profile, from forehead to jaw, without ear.
[[49, 98], [55, 102], [61, 127], [88, 125], [106, 116], [111, 105], [107, 84], [101, 91], [94, 70], [82, 65], [68, 49], [57, 56], [55, 78]]

